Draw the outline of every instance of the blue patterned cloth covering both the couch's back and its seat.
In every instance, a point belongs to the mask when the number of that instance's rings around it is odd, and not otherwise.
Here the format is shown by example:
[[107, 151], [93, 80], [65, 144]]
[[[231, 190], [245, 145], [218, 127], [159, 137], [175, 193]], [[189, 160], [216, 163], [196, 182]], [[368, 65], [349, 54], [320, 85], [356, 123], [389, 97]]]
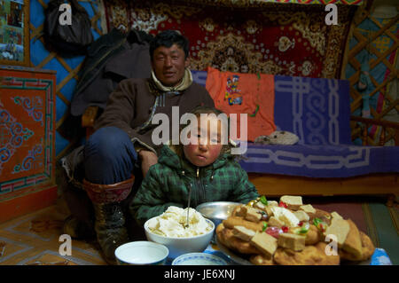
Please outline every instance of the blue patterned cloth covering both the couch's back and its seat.
[[[207, 72], [192, 71], [192, 78], [205, 86]], [[299, 142], [248, 143], [239, 161], [246, 172], [301, 177], [399, 172], [398, 146], [352, 144], [348, 81], [275, 75], [274, 84], [277, 130], [295, 134]]]

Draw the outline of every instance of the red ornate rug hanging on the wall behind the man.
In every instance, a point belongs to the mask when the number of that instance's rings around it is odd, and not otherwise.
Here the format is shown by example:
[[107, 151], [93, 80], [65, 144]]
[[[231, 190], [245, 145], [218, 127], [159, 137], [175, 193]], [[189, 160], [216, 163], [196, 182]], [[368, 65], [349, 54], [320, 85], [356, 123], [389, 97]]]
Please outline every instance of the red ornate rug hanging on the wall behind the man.
[[325, 25], [325, 5], [251, 1], [104, 1], [103, 27], [150, 34], [177, 29], [191, 43], [191, 67], [204, 70], [340, 78], [356, 6], [338, 5], [339, 25]]

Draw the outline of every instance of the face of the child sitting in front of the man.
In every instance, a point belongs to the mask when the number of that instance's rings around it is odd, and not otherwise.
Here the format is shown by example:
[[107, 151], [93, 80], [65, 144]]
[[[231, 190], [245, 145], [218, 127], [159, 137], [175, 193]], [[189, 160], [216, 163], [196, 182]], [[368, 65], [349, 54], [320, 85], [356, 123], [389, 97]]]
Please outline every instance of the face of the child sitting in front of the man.
[[[217, 127], [215, 127], [216, 123]], [[198, 119], [197, 137], [189, 137], [192, 142], [183, 146], [185, 158], [198, 167], [213, 163], [223, 147], [221, 129], [222, 122], [215, 117], [207, 117], [205, 121], [202, 121], [202, 125], [201, 120]]]

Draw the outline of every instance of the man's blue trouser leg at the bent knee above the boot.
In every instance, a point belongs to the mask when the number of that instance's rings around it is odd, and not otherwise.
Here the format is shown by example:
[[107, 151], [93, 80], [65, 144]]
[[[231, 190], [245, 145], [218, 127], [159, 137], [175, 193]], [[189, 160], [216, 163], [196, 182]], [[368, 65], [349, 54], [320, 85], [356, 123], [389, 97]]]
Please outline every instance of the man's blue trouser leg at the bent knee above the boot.
[[137, 153], [128, 134], [116, 127], [98, 129], [84, 146], [85, 178], [111, 185], [131, 177]]

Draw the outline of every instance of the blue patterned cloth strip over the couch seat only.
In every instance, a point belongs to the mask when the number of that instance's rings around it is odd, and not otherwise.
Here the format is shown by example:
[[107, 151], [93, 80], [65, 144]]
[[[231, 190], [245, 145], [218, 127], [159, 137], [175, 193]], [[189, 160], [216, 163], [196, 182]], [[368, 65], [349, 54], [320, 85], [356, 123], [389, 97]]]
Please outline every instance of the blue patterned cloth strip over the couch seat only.
[[399, 171], [399, 146], [247, 144], [246, 172], [301, 177], [356, 177]]

